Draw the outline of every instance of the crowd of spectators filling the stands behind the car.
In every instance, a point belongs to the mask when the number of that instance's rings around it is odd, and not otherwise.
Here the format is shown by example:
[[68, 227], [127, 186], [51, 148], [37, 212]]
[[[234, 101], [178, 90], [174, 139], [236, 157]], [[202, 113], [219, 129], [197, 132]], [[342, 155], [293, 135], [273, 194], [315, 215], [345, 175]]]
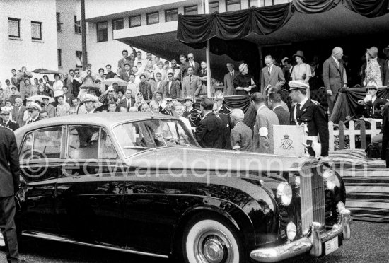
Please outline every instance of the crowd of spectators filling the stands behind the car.
[[[389, 46], [383, 52], [389, 59]], [[149, 52], [143, 59], [140, 51], [133, 50], [129, 54], [127, 50], [123, 50], [115, 72], [112, 71], [112, 65], [108, 64], [95, 74], [91, 64], [86, 64], [85, 71], [70, 69], [62, 75], [54, 74], [54, 81], [50, 81], [47, 75], [39, 79], [33, 78], [33, 74], [23, 66], [18, 71], [13, 69], [11, 78], [5, 81], [6, 86], [0, 86], [1, 125], [15, 130], [39, 119], [63, 115], [149, 111], [182, 119], [188, 128], [195, 131], [202, 146], [271, 152], [271, 146], [266, 146], [269, 150], [264, 149], [264, 144], [255, 141], [255, 134], [260, 133], [260, 130], [251, 130], [250, 133], [248, 127], [243, 125], [243, 111], [228, 109], [223, 104], [224, 95], [249, 95], [258, 91], [254, 99], [257, 110], [263, 110], [262, 106], [265, 106], [272, 112], [266, 113], [272, 115], [271, 122], [288, 125], [291, 114], [288, 105], [281, 100], [281, 89], [289, 89], [289, 81], [302, 83], [307, 89], [308, 99], [310, 86], [323, 83], [330, 113], [339, 90], [347, 87], [347, 64], [342, 59], [342, 48], [335, 47], [323, 66], [318, 65], [317, 59], [314, 59], [313, 64], [306, 64], [302, 51], [297, 51], [291, 57], [292, 59], [284, 57], [281, 65], [277, 66], [273, 57], [267, 55], [266, 66], [260, 71], [258, 83], [249, 74], [247, 64], [240, 64], [237, 71], [228, 62], [227, 74], [223, 78], [223, 92], [214, 93], [214, 101], [204, 100], [208, 104], [202, 105], [201, 110], [197, 110], [194, 103], [196, 97], [207, 93], [207, 63], [195, 61], [192, 53], [187, 56], [181, 54], [178, 64], [175, 59], [163, 62]], [[367, 63], [361, 67], [360, 74], [361, 84], [368, 86], [368, 95], [359, 101], [362, 111], [366, 112], [365, 117], [382, 117], [385, 102], [376, 99], [376, 90], [379, 86], [389, 85], [388, 59], [378, 58], [376, 47], [366, 49]], [[322, 85], [321, 83], [318, 85]], [[223, 138], [216, 145], [214, 142], [204, 143], [207, 136], [199, 137], [202, 134], [199, 124], [209, 112], [213, 112], [223, 122], [223, 127], [229, 127], [228, 132], [221, 131], [222, 136], [216, 131], [211, 135], [211, 138]], [[218, 122], [213, 119], [211, 123], [215, 125]], [[239, 132], [231, 131], [231, 127]], [[238, 139], [237, 134], [245, 134], [247, 138]], [[267, 134], [272, 135], [271, 129]], [[248, 137], [252, 137], [254, 141], [251, 142]]]

